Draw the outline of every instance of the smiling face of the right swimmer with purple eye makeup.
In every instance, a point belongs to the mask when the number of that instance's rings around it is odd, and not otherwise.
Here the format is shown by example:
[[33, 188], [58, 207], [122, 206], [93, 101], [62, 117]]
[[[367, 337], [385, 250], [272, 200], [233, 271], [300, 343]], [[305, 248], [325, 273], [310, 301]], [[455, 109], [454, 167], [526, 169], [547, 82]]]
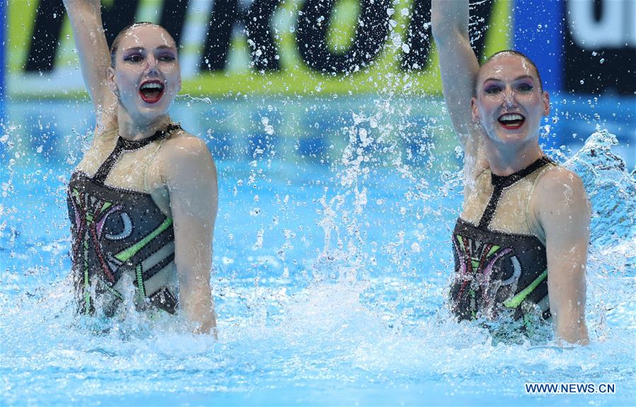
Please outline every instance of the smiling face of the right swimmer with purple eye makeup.
[[471, 105], [473, 120], [495, 143], [538, 138], [541, 119], [550, 112], [536, 68], [510, 52], [497, 54], [480, 68]]

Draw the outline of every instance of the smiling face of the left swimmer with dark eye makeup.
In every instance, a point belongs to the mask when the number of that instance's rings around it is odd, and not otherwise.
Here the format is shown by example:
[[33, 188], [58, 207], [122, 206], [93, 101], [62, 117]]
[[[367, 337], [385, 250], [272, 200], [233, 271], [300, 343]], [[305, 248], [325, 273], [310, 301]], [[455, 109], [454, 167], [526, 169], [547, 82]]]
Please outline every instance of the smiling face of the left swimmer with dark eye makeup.
[[109, 68], [110, 88], [137, 122], [152, 122], [168, 112], [181, 89], [175, 41], [158, 25], [133, 25], [125, 31]]

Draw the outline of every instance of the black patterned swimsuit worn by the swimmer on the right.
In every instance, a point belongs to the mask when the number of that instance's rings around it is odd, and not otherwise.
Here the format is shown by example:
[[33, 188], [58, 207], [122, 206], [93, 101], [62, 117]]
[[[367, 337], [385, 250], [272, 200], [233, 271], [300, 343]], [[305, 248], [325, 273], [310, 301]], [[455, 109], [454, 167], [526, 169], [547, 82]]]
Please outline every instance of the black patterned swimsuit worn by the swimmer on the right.
[[[451, 309], [458, 319], [494, 319], [505, 309], [514, 319], [531, 310], [540, 312], [544, 319], [550, 317], [545, 245], [528, 232], [526, 219], [536, 180], [550, 163], [542, 157], [524, 170], [504, 177], [486, 172], [485, 177], [490, 174], [492, 192], [490, 198], [482, 199], [487, 204], [478, 222], [458, 218], [453, 230], [455, 278], [451, 285]], [[514, 190], [522, 180], [526, 186]], [[507, 229], [516, 228], [517, 232], [491, 227], [504, 194], [507, 212], [512, 212], [514, 219], [500, 223], [512, 225]], [[478, 211], [480, 208], [473, 214]]]

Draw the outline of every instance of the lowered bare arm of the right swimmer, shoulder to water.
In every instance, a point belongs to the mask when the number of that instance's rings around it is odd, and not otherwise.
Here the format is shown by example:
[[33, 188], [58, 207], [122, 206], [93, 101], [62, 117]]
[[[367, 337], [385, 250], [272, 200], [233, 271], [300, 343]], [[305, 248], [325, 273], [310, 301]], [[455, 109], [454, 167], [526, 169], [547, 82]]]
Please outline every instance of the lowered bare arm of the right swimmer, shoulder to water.
[[586, 265], [590, 208], [581, 179], [565, 168], [548, 172], [533, 197], [535, 216], [545, 233], [548, 295], [555, 334], [589, 343], [585, 324]]

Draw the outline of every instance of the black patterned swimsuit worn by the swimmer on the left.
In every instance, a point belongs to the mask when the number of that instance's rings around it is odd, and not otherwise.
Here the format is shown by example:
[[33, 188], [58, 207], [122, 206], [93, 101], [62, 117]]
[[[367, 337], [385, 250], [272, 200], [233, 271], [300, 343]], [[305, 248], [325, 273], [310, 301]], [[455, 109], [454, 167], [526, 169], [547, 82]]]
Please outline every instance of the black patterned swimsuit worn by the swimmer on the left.
[[122, 276], [136, 287], [138, 308], [149, 305], [174, 313], [175, 295], [166, 286], [174, 269], [172, 218], [152, 196], [105, 184], [122, 153], [166, 138], [178, 125], [151, 137], [130, 141], [122, 137], [92, 177], [76, 171], [69, 182], [67, 204], [71, 220], [72, 274], [78, 312], [93, 314], [96, 302], [107, 316], [124, 300]]

